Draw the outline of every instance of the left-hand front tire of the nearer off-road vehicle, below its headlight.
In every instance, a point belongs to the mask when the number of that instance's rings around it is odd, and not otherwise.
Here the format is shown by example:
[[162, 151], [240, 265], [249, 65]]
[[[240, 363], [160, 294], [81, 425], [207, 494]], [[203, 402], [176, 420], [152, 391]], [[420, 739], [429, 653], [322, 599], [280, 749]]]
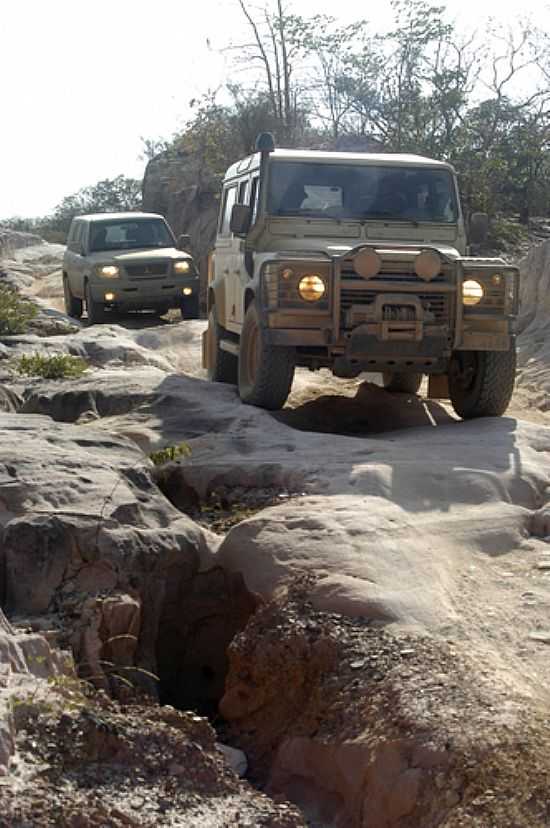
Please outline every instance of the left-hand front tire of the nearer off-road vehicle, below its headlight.
[[268, 345], [256, 303], [247, 308], [239, 351], [239, 396], [248, 405], [277, 411], [287, 401], [294, 379], [294, 349]]

